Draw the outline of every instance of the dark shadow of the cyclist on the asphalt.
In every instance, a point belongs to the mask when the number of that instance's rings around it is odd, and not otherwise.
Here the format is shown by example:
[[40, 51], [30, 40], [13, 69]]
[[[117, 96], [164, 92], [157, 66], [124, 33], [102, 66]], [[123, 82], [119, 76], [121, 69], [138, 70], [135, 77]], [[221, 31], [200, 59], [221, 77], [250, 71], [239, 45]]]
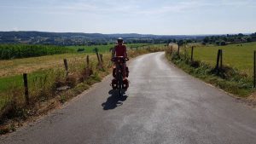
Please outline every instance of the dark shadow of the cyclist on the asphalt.
[[127, 95], [119, 95], [118, 91], [110, 90], [108, 91], [110, 95], [106, 102], [102, 103], [103, 110], [112, 110], [116, 107], [122, 106], [123, 101], [126, 101]]

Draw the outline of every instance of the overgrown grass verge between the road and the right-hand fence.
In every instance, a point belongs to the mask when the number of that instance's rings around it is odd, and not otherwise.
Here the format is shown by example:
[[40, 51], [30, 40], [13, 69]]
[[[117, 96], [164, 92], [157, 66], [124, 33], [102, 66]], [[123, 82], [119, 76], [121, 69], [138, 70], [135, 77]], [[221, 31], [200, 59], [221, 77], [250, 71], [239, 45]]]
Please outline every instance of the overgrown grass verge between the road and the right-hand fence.
[[195, 78], [200, 78], [208, 84], [224, 89], [240, 98], [247, 98], [254, 91], [252, 78], [230, 66], [217, 70], [206, 62], [189, 60], [186, 54], [166, 51], [166, 58]]

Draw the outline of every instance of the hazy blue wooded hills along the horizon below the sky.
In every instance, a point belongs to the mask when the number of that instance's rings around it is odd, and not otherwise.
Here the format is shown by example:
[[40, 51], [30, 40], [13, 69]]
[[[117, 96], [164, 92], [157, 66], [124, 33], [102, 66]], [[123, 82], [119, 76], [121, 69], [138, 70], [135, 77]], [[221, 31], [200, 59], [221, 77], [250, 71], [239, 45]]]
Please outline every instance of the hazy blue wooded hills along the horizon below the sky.
[[137, 33], [0, 32], [0, 43], [93, 45], [115, 43], [117, 37], [123, 37], [125, 43], [167, 43], [168, 40], [172, 39], [203, 39], [206, 36], [166, 36]]

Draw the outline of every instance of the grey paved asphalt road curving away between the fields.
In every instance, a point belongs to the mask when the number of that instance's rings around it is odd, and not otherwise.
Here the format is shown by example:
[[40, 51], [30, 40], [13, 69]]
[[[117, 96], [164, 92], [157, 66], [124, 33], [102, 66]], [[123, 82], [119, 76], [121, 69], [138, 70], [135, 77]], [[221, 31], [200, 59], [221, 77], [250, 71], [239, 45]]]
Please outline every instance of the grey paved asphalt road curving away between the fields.
[[111, 77], [0, 143], [255, 144], [256, 112], [167, 63], [164, 53], [130, 63], [131, 87], [118, 97]]

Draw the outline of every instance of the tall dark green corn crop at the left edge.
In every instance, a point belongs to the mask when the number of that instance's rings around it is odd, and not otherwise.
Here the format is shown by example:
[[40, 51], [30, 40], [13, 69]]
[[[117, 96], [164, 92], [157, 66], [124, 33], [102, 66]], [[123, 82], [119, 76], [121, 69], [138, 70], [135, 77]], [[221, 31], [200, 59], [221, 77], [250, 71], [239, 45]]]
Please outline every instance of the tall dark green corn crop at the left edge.
[[0, 60], [26, 58], [42, 55], [63, 54], [72, 51], [60, 46], [49, 45], [25, 45], [25, 44], [1, 44]]

